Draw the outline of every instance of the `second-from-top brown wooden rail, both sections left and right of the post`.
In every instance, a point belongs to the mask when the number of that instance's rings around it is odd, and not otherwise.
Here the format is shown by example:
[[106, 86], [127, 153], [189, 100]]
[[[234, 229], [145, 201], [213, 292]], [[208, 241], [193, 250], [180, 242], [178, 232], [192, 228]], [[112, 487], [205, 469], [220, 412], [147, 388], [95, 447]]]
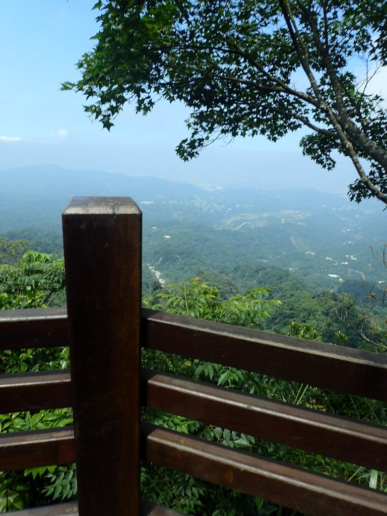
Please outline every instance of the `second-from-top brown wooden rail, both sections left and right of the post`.
[[[143, 368], [141, 378], [144, 406], [372, 469], [387, 470], [387, 429], [383, 426], [151, 369]], [[68, 407], [72, 403], [70, 373], [2, 375], [0, 395], [2, 412]], [[4, 467], [3, 461], [1, 464]]]

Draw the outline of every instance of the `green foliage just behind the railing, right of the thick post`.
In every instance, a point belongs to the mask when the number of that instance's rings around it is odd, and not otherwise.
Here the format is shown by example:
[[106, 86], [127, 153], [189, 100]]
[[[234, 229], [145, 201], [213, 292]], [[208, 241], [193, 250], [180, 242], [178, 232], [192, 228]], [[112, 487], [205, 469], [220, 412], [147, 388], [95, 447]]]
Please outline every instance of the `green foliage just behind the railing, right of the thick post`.
[[[283, 309], [278, 302], [268, 303], [270, 301], [266, 297], [268, 295], [270, 295], [269, 289], [259, 288], [254, 294], [248, 292], [243, 296], [233, 296], [228, 300], [222, 300], [217, 288], [196, 278], [190, 282], [165, 287], [162, 293], [156, 295], [156, 299], [161, 298], [163, 302], [166, 302], [167, 310], [172, 313], [200, 316], [208, 320], [228, 321], [230, 319], [229, 307], [234, 306], [233, 302], [236, 298], [237, 309], [235, 313], [232, 312], [233, 316], [231, 317], [233, 323], [250, 326], [252, 324], [262, 325], [265, 320], [270, 320], [270, 318], [266, 318], [267, 310]], [[257, 303], [253, 305], [257, 309], [256, 316], [241, 317], [243, 309], [247, 313], [253, 310], [249, 303], [256, 299], [255, 296], [263, 303], [268, 304], [263, 308], [260, 303]], [[241, 307], [239, 305], [240, 299], [247, 300], [246, 305]], [[319, 303], [321, 303], [321, 300], [319, 300]], [[224, 307], [227, 307], [227, 309]], [[312, 324], [302, 324], [295, 321], [291, 324], [289, 334], [309, 340], [315, 340], [319, 336]], [[345, 335], [343, 335], [341, 335], [341, 338], [345, 340]], [[190, 360], [160, 351], [143, 350], [142, 360], [143, 365], [148, 367], [295, 405], [302, 405], [314, 410], [329, 411], [380, 424], [385, 424], [386, 421], [387, 414], [384, 404], [373, 400], [328, 392], [311, 385], [299, 385], [246, 370]], [[387, 482], [382, 474], [375, 474], [364, 468], [358, 470], [357, 466], [353, 464], [314, 455], [303, 450], [288, 448], [278, 443], [260, 441], [253, 436], [232, 429], [206, 425], [175, 414], [146, 410], [143, 411], [143, 417], [154, 424], [171, 430], [189, 433], [224, 446], [241, 448], [273, 459], [301, 465], [318, 473], [357, 481], [362, 485], [369, 485], [369, 482], [375, 481], [377, 476], [378, 488], [383, 491], [387, 489]], [[187, 475], [171, 472], [165, 468], [158, 468], [152, 464], [143, 465], [141, 479], [143, 496], [153, 502], [176, 508], [183, 513], [189, 512], [190, 514], [203, 516], [274, 513], [282, 516], [295, 516], [299, 514], [297, 511], [275, 507], [261, 499], [252, 499], [240, 493], [233, 493], [220, 487], [207, 485], [205, 482], [198, 480], [192, 481], [192, 478]], [[191, 489], [187, 490], [179, 486], [195, 486], [196, 490], [193, 492]]]

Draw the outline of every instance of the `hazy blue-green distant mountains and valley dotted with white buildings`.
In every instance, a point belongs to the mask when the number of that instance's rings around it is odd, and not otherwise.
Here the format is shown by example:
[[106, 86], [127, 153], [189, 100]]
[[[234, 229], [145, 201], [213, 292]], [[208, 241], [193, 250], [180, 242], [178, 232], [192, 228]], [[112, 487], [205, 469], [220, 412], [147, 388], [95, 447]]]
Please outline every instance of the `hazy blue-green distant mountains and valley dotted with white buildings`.
[[[387, 241], [377, 201], [316, 190], [204, 190], [191, 184], [54, 166], [0, 171], [0, 235], [61, 231], [74, 196], [130, 196], [143, 212], [143, 260], [166, 281], [244, 264], [297, 272], [311, 288], [384, 281], [370, 250]], [[152, 272], [154, 274], [154, 272]], [[252, 285], [253, 286], [253, 285]]]

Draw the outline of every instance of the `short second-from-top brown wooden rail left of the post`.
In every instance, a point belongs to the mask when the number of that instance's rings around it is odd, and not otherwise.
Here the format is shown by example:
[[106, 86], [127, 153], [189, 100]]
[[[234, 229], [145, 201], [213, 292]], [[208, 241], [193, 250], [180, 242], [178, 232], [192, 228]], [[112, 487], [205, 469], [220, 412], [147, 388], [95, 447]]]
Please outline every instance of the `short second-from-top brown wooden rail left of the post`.
[[0, 414], [71, 406], [70, 371], [0, 375]]

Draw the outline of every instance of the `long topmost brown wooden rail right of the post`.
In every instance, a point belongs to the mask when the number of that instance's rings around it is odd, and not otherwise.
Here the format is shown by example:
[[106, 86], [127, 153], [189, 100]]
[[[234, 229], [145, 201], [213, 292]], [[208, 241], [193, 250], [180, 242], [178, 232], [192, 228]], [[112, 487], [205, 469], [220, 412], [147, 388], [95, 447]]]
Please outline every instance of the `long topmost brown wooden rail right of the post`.
[[142, 345], [387, 401], [382, 354], [151, 310], [143, 310]]

